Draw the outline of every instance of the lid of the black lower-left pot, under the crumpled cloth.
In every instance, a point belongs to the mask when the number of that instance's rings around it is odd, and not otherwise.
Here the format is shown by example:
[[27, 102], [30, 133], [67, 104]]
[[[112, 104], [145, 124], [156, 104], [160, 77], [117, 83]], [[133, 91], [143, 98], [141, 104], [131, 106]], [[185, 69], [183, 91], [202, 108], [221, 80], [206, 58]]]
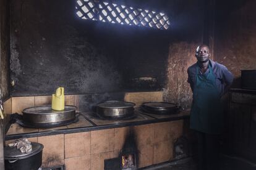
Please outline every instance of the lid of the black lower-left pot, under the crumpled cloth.
[[30, 153], [22, 153], [17, 147], [4, 147], [4, 159], [6, 160], [22, 160], [28, 158], [30, 156], [36, 155], [36, 153], [41, 152], [43, 150], [43, 145], [31, 142], [32, 144], [32, 152]]

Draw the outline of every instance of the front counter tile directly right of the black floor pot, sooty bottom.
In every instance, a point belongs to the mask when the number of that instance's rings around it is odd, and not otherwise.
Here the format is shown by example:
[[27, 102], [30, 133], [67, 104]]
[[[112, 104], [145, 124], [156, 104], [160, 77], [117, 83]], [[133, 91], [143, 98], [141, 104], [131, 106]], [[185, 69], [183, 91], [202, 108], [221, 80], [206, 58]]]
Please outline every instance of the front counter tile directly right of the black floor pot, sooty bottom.
[[64, 164], [64, 134], [38, 137], [43, 144], [43, 168]]

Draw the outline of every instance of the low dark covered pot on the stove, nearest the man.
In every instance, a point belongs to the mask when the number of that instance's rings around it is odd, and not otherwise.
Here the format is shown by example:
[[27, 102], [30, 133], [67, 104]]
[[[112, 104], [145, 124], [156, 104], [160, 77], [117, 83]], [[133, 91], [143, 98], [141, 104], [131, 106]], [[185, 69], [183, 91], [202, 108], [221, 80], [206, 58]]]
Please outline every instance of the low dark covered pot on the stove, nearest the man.
[[156, 115], [171, 115], [177, 113], [179, 107], [175, 103], [145, 102], [141, 105], [143, 111]]

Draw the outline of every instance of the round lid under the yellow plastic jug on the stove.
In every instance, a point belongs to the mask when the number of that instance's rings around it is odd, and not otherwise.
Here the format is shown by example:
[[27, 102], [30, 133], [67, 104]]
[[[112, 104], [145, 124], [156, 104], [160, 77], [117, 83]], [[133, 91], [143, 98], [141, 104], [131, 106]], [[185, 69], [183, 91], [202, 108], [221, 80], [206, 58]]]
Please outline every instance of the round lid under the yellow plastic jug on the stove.
[[75, 111], [76, 107], [75, 106], [69, 106], [66, 105], [64, 110], [58, 111], [58, 110], [53, 110], [51, 109], [51, 105], [43, 105], [43, 106], [38, 106], [38, 107], [30, 107], [30, 108], [25, 108], [22, 112], [27, 113], [27, 114], [54, 114], [54, 113], [67, 113], [70, 111]]

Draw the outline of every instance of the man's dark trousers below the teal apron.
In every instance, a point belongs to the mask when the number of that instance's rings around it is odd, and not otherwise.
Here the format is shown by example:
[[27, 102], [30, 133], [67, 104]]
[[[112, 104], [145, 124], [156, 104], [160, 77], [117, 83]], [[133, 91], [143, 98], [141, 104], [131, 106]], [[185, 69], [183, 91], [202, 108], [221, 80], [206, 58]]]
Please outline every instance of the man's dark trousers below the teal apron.
[[218, 170], [219, 136], [197, 131], [198, 141], [198, 170]]

